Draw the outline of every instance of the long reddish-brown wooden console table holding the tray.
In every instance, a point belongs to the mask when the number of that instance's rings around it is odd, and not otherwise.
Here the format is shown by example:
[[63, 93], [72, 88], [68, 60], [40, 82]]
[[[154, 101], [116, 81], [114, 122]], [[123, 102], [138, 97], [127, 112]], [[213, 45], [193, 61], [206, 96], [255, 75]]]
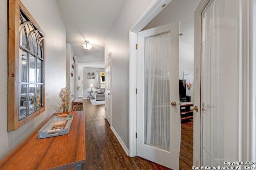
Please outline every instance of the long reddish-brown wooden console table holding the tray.
[[0, 169], [81, 169], [85, 162], [84, 111], [69, 114], [73, 114], [74, 118], [68, 134], [38, 139], [38, 130], [58, 114], [50, 116], [0, 162]]

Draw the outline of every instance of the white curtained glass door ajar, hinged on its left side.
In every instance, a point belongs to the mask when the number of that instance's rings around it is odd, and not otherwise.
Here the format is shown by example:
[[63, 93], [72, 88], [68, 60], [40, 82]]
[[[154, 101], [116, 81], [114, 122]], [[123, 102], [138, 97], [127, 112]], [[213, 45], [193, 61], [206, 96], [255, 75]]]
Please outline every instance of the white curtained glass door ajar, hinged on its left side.
[[180, 151], [178, 65], [178, 22], [138, 32], [137, 155], [174, 170]]

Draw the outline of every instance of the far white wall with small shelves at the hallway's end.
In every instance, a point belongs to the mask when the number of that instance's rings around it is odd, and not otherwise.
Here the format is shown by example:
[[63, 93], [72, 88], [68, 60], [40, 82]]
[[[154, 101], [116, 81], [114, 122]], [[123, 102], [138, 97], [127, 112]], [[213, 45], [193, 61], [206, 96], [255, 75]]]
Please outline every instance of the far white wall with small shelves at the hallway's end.
[[[92, 67], [83, 67], [83, 98], [87, 99], [87, 97], [90, 95], [90, 93], [88, 93], [87, 91], [91, 91], [90, 88], [90, 84], [93, 85], [92, 87], [92, 91], [95, 91], [95, 87], [96, 87], [96, 83], [97, 83], [97, 79], [96, 79], [96, 75], [97, 75], [97, 71], [104, 71], [104, 68], [92, 68]], [[94, 77], [95, 79], [87, 79], [88, 77], [88, 73], [94, 73]], [[90, 76], [93, 77], [93, 76]], [[92, 96], [94, 96], [94, 93], [92, 93]]]

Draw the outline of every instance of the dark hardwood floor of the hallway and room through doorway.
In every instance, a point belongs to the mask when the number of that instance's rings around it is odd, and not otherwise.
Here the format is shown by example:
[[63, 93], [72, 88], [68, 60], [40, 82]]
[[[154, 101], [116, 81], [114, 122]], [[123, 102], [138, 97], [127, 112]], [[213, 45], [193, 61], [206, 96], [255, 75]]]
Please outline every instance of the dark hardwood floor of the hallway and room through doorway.
[[[166, 170], [168, 168], [138, 156], [126, 155], [110, 125], [104, 119], [104, 105], [92, 105], [84, 101], [86, 163], [83, 169], [94, 170]], [[191, 169], [193, 164], [193, 123], [182, 123], [180, 169]], [[191, 134], [192, 132], [192, 134]]]

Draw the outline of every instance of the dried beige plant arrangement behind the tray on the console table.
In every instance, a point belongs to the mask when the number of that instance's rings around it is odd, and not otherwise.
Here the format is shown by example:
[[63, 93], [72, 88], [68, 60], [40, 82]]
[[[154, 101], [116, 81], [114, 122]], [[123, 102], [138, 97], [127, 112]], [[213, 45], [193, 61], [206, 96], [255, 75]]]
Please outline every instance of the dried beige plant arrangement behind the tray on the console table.
[[[70, 112], [73, 97], [74, 95], [71, 95], [71, 92], [68, 89], [68, 87], [62, 88], [59, 93], [60, 102], [58, 102], [58, 106], [52, 106], [55, 113]], [[74, 108], [75, 107], [73, 107], [73, 109]]]

